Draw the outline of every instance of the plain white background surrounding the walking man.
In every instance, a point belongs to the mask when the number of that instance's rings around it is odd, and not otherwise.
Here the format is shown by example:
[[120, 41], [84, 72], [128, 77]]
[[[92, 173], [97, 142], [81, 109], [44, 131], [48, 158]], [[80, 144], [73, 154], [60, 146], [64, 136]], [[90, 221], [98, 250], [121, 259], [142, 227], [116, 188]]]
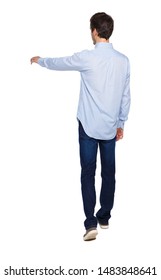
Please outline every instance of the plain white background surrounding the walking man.
[[[100, 266], [156, 266], [160, 273], [159, 2], [1, 1], [0, 279], [7, 279], [3, 270], [9, 265], [95, 270], [64, 279], [97, 279]], [[30, 58], [93, 48], [89, 19], [100, 11], [114, 18], [111, 42], [130, 59], [132, 105], [124, 140], [116, 148], [110, 229], [98, 229], [96, 241], [84, 242], [76, 121], [79, 73], [31, 66]], [[99, 194], [99, 157], [96, 183]]]

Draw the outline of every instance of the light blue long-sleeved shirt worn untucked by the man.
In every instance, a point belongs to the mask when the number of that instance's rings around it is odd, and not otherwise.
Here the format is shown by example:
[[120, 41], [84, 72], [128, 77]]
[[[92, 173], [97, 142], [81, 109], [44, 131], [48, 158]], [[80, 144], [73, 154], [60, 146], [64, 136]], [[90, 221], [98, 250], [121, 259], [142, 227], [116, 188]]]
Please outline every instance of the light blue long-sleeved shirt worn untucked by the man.
[[77, 119], [88, 136], [108, 140], [116, 136], [117, 128], [124, 127], [130, 108], [129, 60], [111, 43], [96, 43], [94, 49], [72, 56], [40, 58], [38, 64], [80, 72]]

